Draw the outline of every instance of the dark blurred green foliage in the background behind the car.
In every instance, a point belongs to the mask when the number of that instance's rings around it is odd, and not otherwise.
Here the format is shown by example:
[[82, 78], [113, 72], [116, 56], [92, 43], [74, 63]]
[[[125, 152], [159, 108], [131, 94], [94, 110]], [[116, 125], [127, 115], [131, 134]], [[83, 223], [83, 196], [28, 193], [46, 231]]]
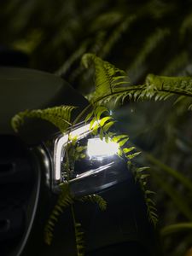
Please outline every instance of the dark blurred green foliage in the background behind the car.
[[57, 73], [97, 100], [91, 94], [94, 71], [81, 65], [84, 53], [128, 74], [129, 84], [121, 87], [129, 92], [119, 96], [124, 107], [114, 117], [143, 152], [140, 163], [151, 166], [148, 181], [156, 192], [166, 255], [186, 253], [192, 241], [191, 1], [12, 0], [1, 5], [0, 44], [25, 51], [29, 67]]

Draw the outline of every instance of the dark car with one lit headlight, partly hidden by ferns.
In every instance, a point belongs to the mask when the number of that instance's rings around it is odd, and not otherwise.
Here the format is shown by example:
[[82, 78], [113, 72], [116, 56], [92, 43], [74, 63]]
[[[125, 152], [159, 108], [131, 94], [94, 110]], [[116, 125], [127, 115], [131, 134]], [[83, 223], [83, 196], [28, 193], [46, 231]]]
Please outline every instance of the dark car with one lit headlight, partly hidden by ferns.
[[[44, 242], [44, 227], [65, 183], [67, 134], [44, 119], [26, 119], [15, 133], [10, 120], [26, 109], [61, 105], [77, 106], [75, 117], [89, 102], [64, 79], [30, 68], [0, 67], [0, 86], [0, 254], [77, 255], [70, 208], [55, 224], [51, 245]], [[89, 142], [90, 151], [98, 143], [84, 119], [72, 131], [81, 134], [80, 144]], [[96, 194], [107, 202], [105, 211], [91, 202], [74, 204], [85, 255], [160, 255], [142, 189], [124, 161], [100, 151], [77, 160], [69, 181], [76, 197]]]

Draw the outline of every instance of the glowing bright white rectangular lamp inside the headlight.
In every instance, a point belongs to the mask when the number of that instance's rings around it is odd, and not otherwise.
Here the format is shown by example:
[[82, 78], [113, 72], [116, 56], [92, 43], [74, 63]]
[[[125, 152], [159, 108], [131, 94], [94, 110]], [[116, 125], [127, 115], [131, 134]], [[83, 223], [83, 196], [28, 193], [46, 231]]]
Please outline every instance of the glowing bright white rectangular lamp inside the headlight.
[[87, 143], [87, 154], [92, 157], [102, 158], [110, 156], [118, 152], [118, 143], [108, 142], [101, 140], [99, 137], [90, 138]]

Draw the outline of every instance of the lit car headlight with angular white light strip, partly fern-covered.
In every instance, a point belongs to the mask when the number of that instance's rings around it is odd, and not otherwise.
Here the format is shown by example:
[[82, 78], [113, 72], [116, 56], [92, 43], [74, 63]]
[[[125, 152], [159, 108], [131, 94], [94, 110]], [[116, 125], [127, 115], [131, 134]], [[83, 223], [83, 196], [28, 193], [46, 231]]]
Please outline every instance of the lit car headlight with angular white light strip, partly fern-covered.
[[76, 137], [76, 145], [84, 148], [83, 156], [70, 159], [70, 174], [67, 173], [66, 149], [71, 143], [68, 133], [57, 137], [54, 145], [53, 189], [61, 183], [69, 182], [73, 195], [87, 195], [113, 186], [129, 177], [125, 160], [117, 155], [119, 144], [106, 143], [90, 132], [90, 125], [79, 125], [70, 132]]

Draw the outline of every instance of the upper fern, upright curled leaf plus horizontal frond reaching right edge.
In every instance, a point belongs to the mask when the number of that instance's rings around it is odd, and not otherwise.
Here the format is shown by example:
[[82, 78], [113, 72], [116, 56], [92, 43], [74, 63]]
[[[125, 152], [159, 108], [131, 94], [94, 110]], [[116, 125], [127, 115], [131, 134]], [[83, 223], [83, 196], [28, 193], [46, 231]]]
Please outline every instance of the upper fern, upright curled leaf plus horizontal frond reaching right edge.
[[[145, 84], [131, 85], [125, 73], [96, 55], [83, 56], [85, 67], [93, 62], [96, 69], [96, 92], [91, 95], [93, 104], [122, 104], [125, 98], [137, 100], [166, 100], [171, 96], [192, 96], [192, 79], [190, 77], [165, 77], [149, 74]], [[119, 73], [121, 74], [119, 76]], [[191, 104], [189, 104], [189, 109]]]

